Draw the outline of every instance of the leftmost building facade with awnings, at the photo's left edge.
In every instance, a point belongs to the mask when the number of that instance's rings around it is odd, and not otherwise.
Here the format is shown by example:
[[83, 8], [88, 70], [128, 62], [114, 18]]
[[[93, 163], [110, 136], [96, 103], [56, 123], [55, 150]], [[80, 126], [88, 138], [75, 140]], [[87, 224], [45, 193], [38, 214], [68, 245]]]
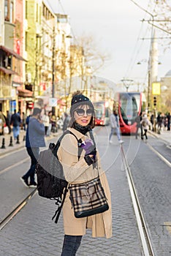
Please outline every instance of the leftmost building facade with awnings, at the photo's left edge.
[[22, 38], [23, 17], [16, 16], [15, 4], [23, 13], [23, 1], [1, 1], [0, 109], [4, 114], [7, 110], [11, 113], [15, 108], [18, 110], [17, 88], [23, 84], [23, 61], [26, 61], [22, 48], [18, 47]]

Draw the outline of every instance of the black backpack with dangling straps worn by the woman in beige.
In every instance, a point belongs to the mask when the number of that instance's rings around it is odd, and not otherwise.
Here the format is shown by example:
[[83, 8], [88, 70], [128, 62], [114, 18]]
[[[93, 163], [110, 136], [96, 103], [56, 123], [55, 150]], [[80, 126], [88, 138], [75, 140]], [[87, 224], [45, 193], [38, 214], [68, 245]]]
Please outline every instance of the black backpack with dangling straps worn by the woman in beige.
[[[35, 172], [37, 173], [37, 190], [39, 196], [56, 200], [58, 208], [52, 218], [54, 219], [56, 217], [56, 223], [58, 222], [59, 215], [61, 214], [61, 208], [64, 204], [66, 193], [68, 192], [68, 182], [64, 178], [63, 167], [61, 162], [58, 160], [57, 151], [64, 135], [69, 133], [74, 135], [69, 130], [66, 130], [66, 132], [64, 132], [64, 134], [58, 139], [56, 145], [54, 143], [50, 143], [48, 149], [40, 152], [35, 169]], [[75, 138], [77, 139], [76, 136]], [[77, 140], [77, 142], [81, 143], [80, 140]], [[80, 158], [81, 149], [78, 148], [78, 159]]]

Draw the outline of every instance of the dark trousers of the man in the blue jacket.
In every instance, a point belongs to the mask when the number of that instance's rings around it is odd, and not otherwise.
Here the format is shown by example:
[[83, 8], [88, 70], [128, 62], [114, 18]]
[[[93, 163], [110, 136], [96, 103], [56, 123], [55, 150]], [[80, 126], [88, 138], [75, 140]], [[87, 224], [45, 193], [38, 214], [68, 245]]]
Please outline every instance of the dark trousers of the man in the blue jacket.
[[35, 167], [37, 165], [37, 159], [39, 158], [39, 148], [26, 148], [27, 153], [31, 158], [31, 166], [28, 172], [23, 176], [24, 178], [30, 177], [30, 183], [34, 183]]

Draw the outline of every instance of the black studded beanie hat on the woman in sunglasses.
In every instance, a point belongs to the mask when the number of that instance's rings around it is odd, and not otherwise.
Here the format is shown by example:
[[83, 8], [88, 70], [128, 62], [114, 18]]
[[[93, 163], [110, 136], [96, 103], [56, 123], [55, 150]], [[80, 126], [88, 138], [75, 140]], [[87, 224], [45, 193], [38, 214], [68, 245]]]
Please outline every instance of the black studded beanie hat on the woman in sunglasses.
[[75, 94], [72, 97], [72, 101], [71, 101], [71, 109], [70, 109], [71, 116], [74, 110], [76, 110], [79, 105], [88, 105], [90, 106], [90, 108], [94, 109], [94, 105], [92, 104], [91, 100], [88, 99], [88, 97], [84, 96], [83, 94]]

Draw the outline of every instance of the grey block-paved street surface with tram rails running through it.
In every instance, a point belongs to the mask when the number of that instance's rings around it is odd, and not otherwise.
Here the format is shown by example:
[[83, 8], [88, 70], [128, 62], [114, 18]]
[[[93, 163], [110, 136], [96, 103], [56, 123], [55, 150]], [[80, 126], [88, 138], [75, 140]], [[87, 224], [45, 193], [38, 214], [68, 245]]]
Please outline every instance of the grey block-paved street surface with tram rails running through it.
[[[96, 127], [96, 142], [110, 182], [113, 203], [113, 238], [91, 238], [88, 231], [77, 252], [78, 256], [86, 255], [143, 255], [140, 235], [132, 208], [126, 173], [123, 167], [120, 146], [113, 136], [113, 144], [109, 145], [107, 136], [109, 127]], [[7, 136], [7, 135], [6, 135]], [[170, 132], [161, 135], [150, 135], [148, 143], [155, 146], [170, 160]], [[48, 140], [56, 140], [51, 137]], [[150, 228], [150, 236], [156, 256], [171, 255], [170, 219], [170, 167], [156, 157], [140, 138], [123, 136], [123, 147], [132, 170], [132, 176], [137, 189], [143, 214]], [[0, 138], [1, 141], [1, 138]], [[22, 142], [23, 143], [23, 142]], [[15, 145], [19, 149], [23, 144]], [[7, 156], [1, 156], [1, 219], [11, 211], [15, 204], [22, 200], [31, 189], [23, 187], [20, 176], [29, 167], [26, 150], [13, 151]], [[11, 150], [11, 149], [10, 149]], [[8, 147], [0, 149], [0, 154], [8, 152]], [[18, 166], [9, 168], [26, 159]], [[171, 162], [171, 161], [170, 161]], [[10, 163], [10, 164], [9, 164]], [[56, 225], [51, 221], [56, 206], [50, 200], [37, 194], [28, 201], [26, 206], [1, 230], [0, 255], [7, 256], [59, 256], [64, 237], [62, 215]], [[166, 224], [164, 224], [166, 223]]]

